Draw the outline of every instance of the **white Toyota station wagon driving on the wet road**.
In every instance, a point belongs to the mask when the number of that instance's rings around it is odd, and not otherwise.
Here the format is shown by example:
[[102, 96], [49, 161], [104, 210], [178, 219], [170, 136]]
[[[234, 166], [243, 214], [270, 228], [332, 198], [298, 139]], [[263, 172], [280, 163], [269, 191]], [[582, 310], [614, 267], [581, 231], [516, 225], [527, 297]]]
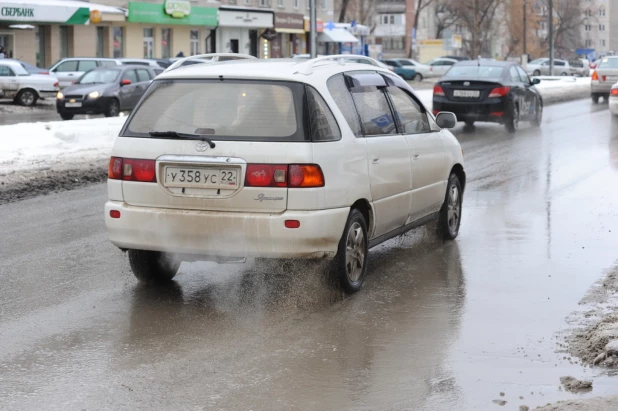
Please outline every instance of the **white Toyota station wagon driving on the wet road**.
[[354, 292], [370, 248], [434, 220], [457, 236], [454, 114], [346, 58], [178, 62], [152, 82], [115, 142], [105, 206], [138, 279], [189, 260], [324, 258]]

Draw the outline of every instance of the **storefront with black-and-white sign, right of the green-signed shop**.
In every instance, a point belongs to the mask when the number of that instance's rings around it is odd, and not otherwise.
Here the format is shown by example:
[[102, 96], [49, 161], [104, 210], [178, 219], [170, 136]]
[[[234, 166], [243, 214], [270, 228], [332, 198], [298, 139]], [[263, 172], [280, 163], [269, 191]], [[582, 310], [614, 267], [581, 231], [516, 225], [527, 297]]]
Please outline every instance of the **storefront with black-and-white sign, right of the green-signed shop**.
[[262, 34], [273, 26], [271, 10], [221, 6], [217, 28], [217, 52], [269, 58], [270, 41], [262, 38]]

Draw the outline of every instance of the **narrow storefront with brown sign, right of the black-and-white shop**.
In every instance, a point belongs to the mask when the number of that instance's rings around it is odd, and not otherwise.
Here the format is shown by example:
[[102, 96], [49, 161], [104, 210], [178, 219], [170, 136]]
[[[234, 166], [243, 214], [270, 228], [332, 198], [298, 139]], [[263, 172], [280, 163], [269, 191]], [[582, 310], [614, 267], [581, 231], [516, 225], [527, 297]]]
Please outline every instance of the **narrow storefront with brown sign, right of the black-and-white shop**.
[[277, 37], [271, 42], [271, 57], [292, 57], [303, 53], [305, 40], [304, 16], [294, 13], [275, 13]]

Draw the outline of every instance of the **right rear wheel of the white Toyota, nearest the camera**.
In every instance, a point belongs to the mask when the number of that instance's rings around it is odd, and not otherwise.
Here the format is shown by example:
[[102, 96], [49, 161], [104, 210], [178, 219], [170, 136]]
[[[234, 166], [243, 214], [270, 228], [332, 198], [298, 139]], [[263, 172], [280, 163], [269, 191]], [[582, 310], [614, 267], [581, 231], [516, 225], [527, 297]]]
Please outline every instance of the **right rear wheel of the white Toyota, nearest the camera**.
[[345, 292], [351, 294], [361, 289], [367, 273], [368, 255], [367, 221], [360, 211], [353, 209], [333, 261], [334, 280]]

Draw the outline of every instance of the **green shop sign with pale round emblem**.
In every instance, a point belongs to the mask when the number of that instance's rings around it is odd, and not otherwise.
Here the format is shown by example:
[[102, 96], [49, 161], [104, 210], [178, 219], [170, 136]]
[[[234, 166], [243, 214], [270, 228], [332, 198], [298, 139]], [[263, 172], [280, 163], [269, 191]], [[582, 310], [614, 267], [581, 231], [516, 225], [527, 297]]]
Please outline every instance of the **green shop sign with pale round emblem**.
[[129, 3], [130, 23], [182, 24], [187, 26], [212, 26], [218, 22], [214, 7], [191, 7], [185, 0], [168, 0], [165, 5], [155, 3]]

